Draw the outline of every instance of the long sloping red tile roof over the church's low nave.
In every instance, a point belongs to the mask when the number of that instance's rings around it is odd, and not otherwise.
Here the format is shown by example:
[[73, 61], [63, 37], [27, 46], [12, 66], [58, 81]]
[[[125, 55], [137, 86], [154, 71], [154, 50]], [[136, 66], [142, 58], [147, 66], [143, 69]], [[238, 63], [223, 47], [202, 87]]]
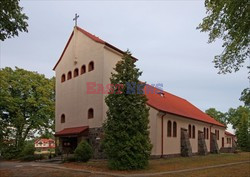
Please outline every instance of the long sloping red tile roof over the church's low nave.
[[202, 112], [200, 109], [198, 109], [197, 107], [195, 107], [194, 105], [192, 105], [190, 102], [188, 102], [183, 98], [180, 98], [178, 96], [175, 96], [171, 93], [162, 90], [161, 90], [162, 94], [157, 94], [155, 93], [157, 89], [150, 85], [147, 85], [147, 87], [145, 88], [147, 90], [148, 89], [154, 90], [154, 93], [149, 93], [149, 92], [147, 93], [146, 90], [146, 96], [148, 98], [147, 104], [157, 110], [225, 127], [225, 125], [216, 121], [215, 119], [213, 119], [206, 113]]

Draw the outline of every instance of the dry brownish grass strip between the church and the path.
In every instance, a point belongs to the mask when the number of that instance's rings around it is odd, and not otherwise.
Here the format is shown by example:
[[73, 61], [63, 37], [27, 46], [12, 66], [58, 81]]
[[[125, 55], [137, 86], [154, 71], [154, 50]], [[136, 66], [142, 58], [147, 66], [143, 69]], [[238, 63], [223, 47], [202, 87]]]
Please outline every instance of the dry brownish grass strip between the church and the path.
[[[168, 158], [168, 159], [155, 159], [149, 161], [149, 166], [146, 169], [136, 170], [136, 171], [110, 170], [108, 169], [106, 160], [89, 161], [87, 163], [76, 163], [76, 162], [65, 163], [63, 164], [63, 166], [68, 168], [84, 169], [84, 170], [99, 171], [99, 172], [113, 172], [113, 173], [117, 172], [122, 174], [132, 174], [132, 173], [155, 173], [155, 172], [172, 171], [172, 170], [183, 170], [183, 169], [206, 167], [211, 165], [219, 165], [219, 164], [226, 164], [226, 163], [240, 162], [247, 160], [250, 160], [249, 152], [241, 152], [237, 154], [209, 154], [207, 156], [194, 156], [190, 158], [178, 157], [178, 158]], [[249, 163], [236, 165], [235, 167], [245, 166], [245, 165], [249, 166]], [[219, 168], [219, 170], [223, 168]], [[225, 168], [231, 169], [231, 166]], [[213, 172], [214, 169], [209, 169], [206, 171]], [[190, 175], [192, 176], [192, 173]]]

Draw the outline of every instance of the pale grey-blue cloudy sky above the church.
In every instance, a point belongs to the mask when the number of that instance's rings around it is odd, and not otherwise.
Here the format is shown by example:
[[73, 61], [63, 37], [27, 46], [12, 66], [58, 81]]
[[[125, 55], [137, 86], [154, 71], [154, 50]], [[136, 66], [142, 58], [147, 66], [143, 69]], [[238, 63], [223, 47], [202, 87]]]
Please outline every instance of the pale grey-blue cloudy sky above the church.
[[[242, 105], [249, 87], [247, 69], [219, 75], [212, 60], [222, 41], [208, 44], [196, 29], [206, 16], [204, 1], [21, 1], [29, 17], [28, 33], [0, 43], [0, 67], [15, 66], [46, 77], [78, 26], [138, 58], [141, 80], [162, 83], [164, 90], [187, 99], [201, 110], [222, 112]], [[231, 129], [231, 128], [230, 128]]]

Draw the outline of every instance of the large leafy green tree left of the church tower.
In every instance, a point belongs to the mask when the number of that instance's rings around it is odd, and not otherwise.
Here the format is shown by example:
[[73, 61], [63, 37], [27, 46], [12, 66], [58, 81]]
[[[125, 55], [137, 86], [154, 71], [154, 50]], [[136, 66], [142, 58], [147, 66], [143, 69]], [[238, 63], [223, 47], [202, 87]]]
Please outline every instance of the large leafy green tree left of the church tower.
[[36, 132], [53, 128], [54, 84], [54, 78], [36, 72], [0, 70], [0, 123], [5, 125], [0, 131], [7, 141], [14, 140], [16, 149], [21, 150]]

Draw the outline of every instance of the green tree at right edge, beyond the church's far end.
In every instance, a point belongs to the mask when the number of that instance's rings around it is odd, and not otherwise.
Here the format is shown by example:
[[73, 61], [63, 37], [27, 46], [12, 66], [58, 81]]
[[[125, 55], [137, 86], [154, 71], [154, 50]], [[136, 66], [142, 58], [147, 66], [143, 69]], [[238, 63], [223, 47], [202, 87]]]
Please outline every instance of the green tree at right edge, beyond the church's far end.
[[230, 108], [227, 119], [236, 130], [238, 146], [244, 151], [250, 151], [250, 108], [247, 106]]

